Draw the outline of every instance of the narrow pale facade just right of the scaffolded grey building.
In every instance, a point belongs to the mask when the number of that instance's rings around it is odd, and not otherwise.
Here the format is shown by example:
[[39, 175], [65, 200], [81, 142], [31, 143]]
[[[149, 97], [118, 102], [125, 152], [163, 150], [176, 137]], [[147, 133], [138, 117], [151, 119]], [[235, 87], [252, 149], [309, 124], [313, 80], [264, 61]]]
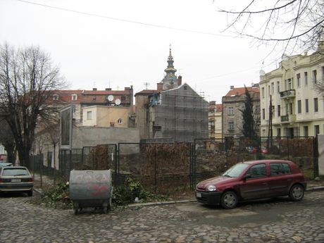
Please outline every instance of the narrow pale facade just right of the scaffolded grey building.
[[222, 138], [222, 104], [210, 101], [208, 107], [208, 137], [211, 139]]

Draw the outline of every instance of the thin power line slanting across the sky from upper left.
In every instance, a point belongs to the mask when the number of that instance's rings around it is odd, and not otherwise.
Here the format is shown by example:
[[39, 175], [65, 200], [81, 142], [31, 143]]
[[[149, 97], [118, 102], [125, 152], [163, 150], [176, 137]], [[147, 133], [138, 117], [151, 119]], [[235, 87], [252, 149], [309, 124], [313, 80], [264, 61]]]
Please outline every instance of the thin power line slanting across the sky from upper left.
[[221, 34], [216, 34], [216, 33], [212, 33], [212, 32], [204, 32], [204, 31], [199, 31], [199, 30], [188, 30], [188, 29], [182, 29], [182, 28], [176, 28], [176, 27], [169, 27], [169, 26], [166, 26], [166, 25], [156, 25], [156, 24], [144, 23], [144, 22], [139, 22], [139, 21], [134, 21], [134, 20], [126, 20], [126, 19], [123, 19], [123, 18], [114, 18], [114, 17], [110, 17], [110, 16], [106, 16], [106, 15], [99, 15], [99, 14], [96, 14], [96, 13], [87, 13], [87, 12], [83, 12], [83, 11], [76, 11], [76, 10], [73, 10], [73, 9], [50, 6], [50, 5], [46, 5], [46, 4], [37, 4], [37, 3], [34, 3], [32, 1], [25, 1], [25, 0], [15, 0], [15, 1], [20, 1], [20, 2], [23, 2], [25, 4], [33, 4], [33, 5], [37, 5], [37, 6], [43, 6], [43, 7], [46, 7], [46, 8], [53, 8], [53, 9], [56, 9], [56, 10], [66, 11], [66, 12], [70, 12], [70, 13], [78, 13], [78, 14], [82, 14], [82, 15], [88, 15], [88, 16], [92, 16], [92, 17], [97, 17], [97, 18], [106, 18], [106, 19], [109, 19], [109, 20], [132, 23], [132, 24], [137, 24], [137, 25], [158, 27], [158, 28], [163, 28], [163, 29], [168, 29], [168, 30], [177, 30], [177, 31], [182, 31], [182, 32], [191, 32], [191, 33], [200, 34], [200, 35], [213, 35], [213, 36], [218, 36], [218, 37], [236, 38], [236, 37], [231, 36], [231, 35], [221, 35]]

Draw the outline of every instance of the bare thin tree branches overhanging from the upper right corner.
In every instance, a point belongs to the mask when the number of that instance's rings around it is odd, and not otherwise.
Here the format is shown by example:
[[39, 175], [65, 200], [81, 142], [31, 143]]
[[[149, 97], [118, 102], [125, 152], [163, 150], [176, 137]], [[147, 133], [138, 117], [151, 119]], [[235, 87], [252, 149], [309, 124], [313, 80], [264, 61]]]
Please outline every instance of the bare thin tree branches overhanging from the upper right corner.
[[323, 0], [249, 0], [228, 15], [226, 30], [257, 42], [282, 43], [285, 49], [314, 49], [323, 37]]

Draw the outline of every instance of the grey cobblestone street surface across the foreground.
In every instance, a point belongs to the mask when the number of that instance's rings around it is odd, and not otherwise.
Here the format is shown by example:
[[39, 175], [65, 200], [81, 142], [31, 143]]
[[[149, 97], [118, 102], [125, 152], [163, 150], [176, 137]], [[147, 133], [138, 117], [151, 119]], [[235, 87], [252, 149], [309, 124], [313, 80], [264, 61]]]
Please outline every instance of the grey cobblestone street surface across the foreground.
[[324, 242], [324, 191], [240, 204], [197, 203], [127, 208], [101, 214], [55, 210], [29, 197], [0, 197], [0, 242]]

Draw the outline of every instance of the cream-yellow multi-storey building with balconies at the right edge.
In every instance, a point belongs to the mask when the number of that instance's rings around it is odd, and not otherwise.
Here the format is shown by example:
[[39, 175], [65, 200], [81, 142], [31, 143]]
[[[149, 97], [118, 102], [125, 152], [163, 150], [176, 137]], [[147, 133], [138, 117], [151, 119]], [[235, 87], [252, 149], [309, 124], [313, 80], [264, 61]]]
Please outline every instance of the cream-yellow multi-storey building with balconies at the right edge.
[[311, 55], [285, 56], [279, 68], [261, 73], [261, 136], [316, 136], [324, 132], [324, 46]]

